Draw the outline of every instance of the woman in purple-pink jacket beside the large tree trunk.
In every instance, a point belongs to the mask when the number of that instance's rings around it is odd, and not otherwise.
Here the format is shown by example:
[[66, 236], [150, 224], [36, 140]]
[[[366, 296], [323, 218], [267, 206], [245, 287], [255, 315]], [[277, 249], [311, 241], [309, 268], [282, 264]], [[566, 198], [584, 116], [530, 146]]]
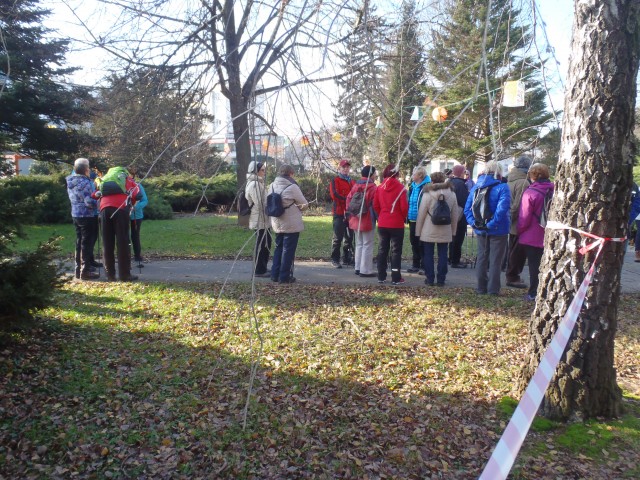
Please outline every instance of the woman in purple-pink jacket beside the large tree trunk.
[[553, 194], [553, 183], [549, 180], [549, 167], [534, 163], [529, 168], [531, 185], [525, 189], [518, 215], [518, 243], [523, 246], [529, 263], [529, 292], [526, 300], [534, 301], [538, 291], [538, 275], [544, 246], [544, 227], [540, 226], [540, 215], [544, 208], [544, 197]]

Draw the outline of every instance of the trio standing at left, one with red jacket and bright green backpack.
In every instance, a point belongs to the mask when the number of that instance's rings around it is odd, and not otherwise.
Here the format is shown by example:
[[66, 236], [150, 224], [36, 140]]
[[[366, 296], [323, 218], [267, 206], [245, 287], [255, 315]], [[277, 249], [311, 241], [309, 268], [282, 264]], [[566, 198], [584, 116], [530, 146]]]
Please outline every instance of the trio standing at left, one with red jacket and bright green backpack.
[[[137, 280], [131, 274], [129, 240], [134, 259], [142, 266], [140, 227], [148, 200], [144, 187], [135, 181], [135, 170], [114, 167], [103, 177], [96, 177], [89, 160], [78, 158], [66, 182], [76, 230], [75, 277], [98, 279], [99, 269], [104, 267], [107, 281], [115, 281], [117, 252], [119, 279]], [[94, 255], [99, 235], [104, 263], [96, 261]]]

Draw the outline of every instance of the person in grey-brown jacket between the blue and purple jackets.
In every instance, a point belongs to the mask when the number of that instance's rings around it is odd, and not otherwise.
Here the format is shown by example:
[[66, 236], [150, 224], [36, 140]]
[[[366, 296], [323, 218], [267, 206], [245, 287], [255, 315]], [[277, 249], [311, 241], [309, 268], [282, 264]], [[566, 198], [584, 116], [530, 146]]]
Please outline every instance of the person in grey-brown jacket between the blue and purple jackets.
[[518, 243], [518, 214], [522, 195], [530, 184], [527, 172], [532, 163], [531, 157], [526, 155], [516, 158], [509, 170], [509, 181], [507, 182], [511, 193], [511, 225], [509, 227], [509, 245], [507, 247], [505, 272], [507, 286], [513, 288], [527, 288], [527, 284], [520, 278], [524, 264], [527, 261], [527, 254], [525, 249]]

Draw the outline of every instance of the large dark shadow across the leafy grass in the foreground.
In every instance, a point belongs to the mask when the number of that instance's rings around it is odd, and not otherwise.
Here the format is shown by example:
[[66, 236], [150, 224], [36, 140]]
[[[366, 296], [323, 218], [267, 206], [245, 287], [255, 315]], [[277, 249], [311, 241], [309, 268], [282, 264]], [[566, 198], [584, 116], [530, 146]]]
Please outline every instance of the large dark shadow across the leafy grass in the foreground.
[[34, 334], [2, 352], [7, 478], [476, 478], [499, 429], [485, 402], [294, 359], [260, 366], [243, 430], [247, 352], [58, 320]]

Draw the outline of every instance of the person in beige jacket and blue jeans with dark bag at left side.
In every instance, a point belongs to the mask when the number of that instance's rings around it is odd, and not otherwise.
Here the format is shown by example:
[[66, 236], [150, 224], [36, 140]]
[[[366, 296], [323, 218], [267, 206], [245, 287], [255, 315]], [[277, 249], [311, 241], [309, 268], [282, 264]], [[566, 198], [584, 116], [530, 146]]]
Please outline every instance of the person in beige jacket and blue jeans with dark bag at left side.
[[293, 179], [294, 170], [291, 165], [281, 165], [278, 176], [267, 189], [282, 196], [285, 210], [280, 217], [271, 218], [271, 228], [276, 233], [276, 249], [273, 252], [271, 265], [271, 281], [293, 283], [296, 281], [293, 273], [293, 260], [298, 248], [300, 232], [304, 230], [302, 211], [309, 206], [302, 190]]

